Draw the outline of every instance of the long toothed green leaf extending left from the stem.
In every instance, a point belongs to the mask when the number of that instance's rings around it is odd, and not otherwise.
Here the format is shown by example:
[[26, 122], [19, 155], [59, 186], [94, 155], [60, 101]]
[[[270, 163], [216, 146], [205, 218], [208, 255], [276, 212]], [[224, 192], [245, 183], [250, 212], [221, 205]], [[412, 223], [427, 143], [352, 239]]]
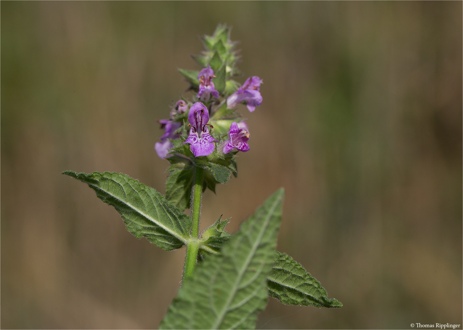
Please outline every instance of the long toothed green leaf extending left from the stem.
[[136, 238], [144, 236], [167, 251], [178, 249], [190, 240], [191, 218], [154, 188], [122, 173], [64, 171], [63, 174], [87, 183], [100, 200], [115, 207], [127, 230]]

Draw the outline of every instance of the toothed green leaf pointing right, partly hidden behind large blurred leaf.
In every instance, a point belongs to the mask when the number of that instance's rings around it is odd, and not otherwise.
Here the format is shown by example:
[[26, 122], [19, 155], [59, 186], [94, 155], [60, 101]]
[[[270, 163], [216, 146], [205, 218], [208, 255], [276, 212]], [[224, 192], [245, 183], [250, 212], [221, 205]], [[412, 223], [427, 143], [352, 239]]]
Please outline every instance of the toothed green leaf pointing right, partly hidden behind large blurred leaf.
[[275, 265], [269, 276], [269, 295], [287, 305], [342, 307], [328, 299], [325, 288], [302, 265], [286, 253], [275, 251]]

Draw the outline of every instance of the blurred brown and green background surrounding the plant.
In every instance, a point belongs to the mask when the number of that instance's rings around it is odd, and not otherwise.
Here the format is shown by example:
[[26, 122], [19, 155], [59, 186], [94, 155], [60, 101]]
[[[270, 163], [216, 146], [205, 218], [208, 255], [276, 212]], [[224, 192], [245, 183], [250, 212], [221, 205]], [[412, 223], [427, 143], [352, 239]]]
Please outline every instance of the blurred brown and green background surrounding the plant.
[[156, 328], [184, 250], [128, 233], [63, 170], [164, 191], [154, 144], [218, 23], [263, 78], [229, 231], [278, 187], [278, 249], [342, 309], [270, 298], [257, 329], [462, 323], [462, 2], [1, 2], [1, 327]]

